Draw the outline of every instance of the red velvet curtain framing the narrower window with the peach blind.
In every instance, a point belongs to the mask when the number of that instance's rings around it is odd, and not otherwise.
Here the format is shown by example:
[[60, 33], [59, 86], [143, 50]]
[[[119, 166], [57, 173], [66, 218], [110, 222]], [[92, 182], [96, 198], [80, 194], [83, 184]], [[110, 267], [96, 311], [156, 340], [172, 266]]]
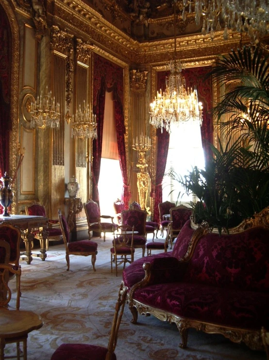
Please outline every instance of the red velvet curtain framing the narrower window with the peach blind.
[[93, 82], [93, 113], [97, 118], [97, 140], [93, 141], [93, 200], [99, 200], [98, 181], [101, 166], [102, 131], [104, 118], [105, 91], [113, 91], [114, 112], [118, 142], [119, 164], [124, 184], [122, 200], [128, 208], [130, 199], [129, 184], [127, 181], [126, 150], [124, 141], [124, 115], [123, 115], [123, 69], [116, 64], [94, 54], [94, 82]]

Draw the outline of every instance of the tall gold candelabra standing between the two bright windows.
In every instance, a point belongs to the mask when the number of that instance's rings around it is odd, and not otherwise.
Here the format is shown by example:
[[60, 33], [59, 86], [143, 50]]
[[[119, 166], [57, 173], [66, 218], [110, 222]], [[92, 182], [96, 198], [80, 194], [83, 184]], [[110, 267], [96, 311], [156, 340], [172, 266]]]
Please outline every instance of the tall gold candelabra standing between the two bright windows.
[[137, 172], [137, 189], [140, 206], [145, 210], [150, 184], [150, 177], [147, 172], [148, 164], [146, 152], [151, 149], [151, 139], [144, 134], [141, 134], [139, 138], [136, 136], [132, 148], [138, 152], [138, 162], [136, 165], [139, 169], [139, 172]]

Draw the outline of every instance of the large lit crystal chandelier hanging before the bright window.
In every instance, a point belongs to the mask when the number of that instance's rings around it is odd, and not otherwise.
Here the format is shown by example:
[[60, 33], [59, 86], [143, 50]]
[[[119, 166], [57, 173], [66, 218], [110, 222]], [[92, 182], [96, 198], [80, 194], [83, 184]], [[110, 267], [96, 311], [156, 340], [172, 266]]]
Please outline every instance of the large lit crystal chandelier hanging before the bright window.
[[185, 77], [181, 75], [182, 64], [176, 58], [176, 11], [174, 4], [174, 58], [170, 65], [170, 75], [166, 79], [164, 92], [157, 92], [150, 104], [150, 124], [156, 129], [166, 129], [171, 133], [171, 123], [188, 120], [199, 121], [202, 125], [202, 103], [198, 102], [197, 90], [186, 89]]

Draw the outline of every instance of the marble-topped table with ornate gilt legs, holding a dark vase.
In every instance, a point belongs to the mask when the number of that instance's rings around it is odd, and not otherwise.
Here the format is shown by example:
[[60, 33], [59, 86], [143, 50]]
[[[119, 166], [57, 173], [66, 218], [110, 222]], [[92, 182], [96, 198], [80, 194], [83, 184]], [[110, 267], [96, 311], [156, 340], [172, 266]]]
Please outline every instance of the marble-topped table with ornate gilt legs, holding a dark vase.
[[[47, 239], [47, 220], [46, 216], [34, 216], [34, 215], [0, 215], [0, 224], [9, 223], [16, 225], [20, 228], [21, 237], [25, 244], [25, 251], [21, 253], [21, 260], [25, 260], [27, 264], [31, 264], [33, 256], [37, 256], [42, 261], [45, 261], [46, 254], [46, 239]], [[40, 254], [32, 253], [32, 241], [34, 240], [33, 229], [38, 229], [40, 235]]]

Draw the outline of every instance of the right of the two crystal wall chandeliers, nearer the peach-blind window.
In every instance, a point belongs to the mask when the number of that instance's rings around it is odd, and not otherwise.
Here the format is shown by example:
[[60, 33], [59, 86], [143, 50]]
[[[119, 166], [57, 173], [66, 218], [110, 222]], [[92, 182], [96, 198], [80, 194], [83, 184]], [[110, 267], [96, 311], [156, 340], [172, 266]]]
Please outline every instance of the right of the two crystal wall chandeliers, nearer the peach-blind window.
[[71, 137], [97, 139], [96, 115], [90, 114], [89, 104], [85, 106], [85, 100], [83, 102], [83, 109], [79, 105], [79, 110], [76, 111], [75, 117], [74, 115], [72, 116]]

